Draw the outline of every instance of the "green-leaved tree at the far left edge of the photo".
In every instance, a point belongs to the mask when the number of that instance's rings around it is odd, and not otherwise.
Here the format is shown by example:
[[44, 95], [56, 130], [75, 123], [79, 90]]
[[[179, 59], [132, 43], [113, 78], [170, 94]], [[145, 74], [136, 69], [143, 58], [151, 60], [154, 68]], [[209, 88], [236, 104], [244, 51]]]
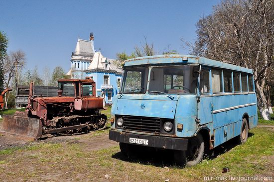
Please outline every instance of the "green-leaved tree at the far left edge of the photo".
[[0, 31], [0, 91], [4, 88], [4, 69], [3, 69], [3, 59], [6, 56], [8, 39], [5, 33]]

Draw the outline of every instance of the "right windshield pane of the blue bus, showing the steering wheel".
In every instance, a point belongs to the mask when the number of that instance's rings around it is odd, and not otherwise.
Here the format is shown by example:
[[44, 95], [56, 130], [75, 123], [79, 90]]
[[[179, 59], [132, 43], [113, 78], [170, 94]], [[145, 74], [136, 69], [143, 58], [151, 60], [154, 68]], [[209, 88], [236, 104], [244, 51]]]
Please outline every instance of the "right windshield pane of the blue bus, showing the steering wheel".
[[155, 67], [150, 72], [150, 94], [195, 94], [197, 78], [193, 66]]

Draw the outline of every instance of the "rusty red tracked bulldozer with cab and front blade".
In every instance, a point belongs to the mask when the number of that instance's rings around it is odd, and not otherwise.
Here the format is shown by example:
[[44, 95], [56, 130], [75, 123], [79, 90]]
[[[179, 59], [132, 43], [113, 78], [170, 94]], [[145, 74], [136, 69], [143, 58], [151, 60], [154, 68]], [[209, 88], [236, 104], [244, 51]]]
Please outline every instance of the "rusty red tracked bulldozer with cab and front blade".
[[32, 88], [33, 83], [25, 112], [3, 115], [0, 134], [35, 140], [43, 134], [88, 133], [107, 122], [100, 113], [103, 98], [96, 97], [95, 82], [90, 78], [58, 80], [57, 97], [37, 97]]

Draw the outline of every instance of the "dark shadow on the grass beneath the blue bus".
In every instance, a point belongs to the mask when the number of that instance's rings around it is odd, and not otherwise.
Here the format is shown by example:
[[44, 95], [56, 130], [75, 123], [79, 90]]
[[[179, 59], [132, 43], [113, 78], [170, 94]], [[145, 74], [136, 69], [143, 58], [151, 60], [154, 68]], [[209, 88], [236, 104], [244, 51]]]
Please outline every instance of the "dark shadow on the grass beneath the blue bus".
[[[253, 135], [254, 135], [253, 133], [249, 133], [249, 137]], [[237, 145], [239, 144], [238, 144], [238, 139], [236, 137], [213, 149], [212, 155], [207, 158], [209, 160], [213, 160], [217, 158], [217, 156], [223, 155], [226, 152], [229, 152], [231, 149], [233, 149]], [[131, 157], [131, 158], [124, 156], [122, 152], [118, 152], [114, 154], [112, 158], [119, 159], [125, 162], [130, 162], [130, 163], [152, 165], [155, 167], [175, 166], [172, 150], [156, 150], [153, 148], [139, 146], [139, 148], [136, 151], [137, 153], [135, 153], [134, 157]]]

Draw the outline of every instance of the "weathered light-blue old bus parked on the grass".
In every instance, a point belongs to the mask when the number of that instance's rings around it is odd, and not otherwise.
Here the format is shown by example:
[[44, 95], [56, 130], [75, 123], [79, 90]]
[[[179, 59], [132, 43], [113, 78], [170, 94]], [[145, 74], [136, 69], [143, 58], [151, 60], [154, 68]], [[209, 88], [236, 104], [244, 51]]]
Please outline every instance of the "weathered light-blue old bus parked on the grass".
[[157, 55], [125, 61], [113, 99], [109, 139], [131, 156], [140, 146], [173, 151], [193, 166], [212, 149], [257, 126], [253, 71], [191, 55]]

